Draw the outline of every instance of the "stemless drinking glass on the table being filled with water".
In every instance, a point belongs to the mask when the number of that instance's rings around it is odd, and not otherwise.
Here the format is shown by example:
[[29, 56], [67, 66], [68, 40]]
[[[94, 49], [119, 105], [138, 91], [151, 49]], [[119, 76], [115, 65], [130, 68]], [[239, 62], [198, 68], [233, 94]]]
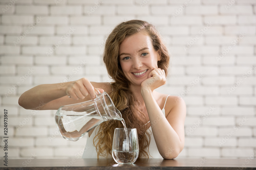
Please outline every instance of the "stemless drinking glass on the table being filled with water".
[[133, 164], [139, 156], [139, 143], [136, 128], [127, 128], [128, 139], [125, 128], [115, 128], [112, 156], [116, 163]]

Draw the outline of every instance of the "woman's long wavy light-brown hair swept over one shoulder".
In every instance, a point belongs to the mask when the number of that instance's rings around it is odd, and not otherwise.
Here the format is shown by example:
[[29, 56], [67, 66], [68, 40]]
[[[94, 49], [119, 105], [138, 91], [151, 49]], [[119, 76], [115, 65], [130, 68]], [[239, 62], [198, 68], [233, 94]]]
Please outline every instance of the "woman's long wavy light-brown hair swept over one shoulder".
[[[119, 46], [126, 37], [133, 34], [146, 32], [151, 37], [152, 45], [155, 51], [161, 52], [161, 59], [157, 62], [158, 68], [168, 74], [169, 54], [163, 43], [161, 35], [155, 26], [142, 20], [130, 20], [117, 25], [108, 36], [103, 54], [103, 61], [109, 76], [114, 80], [112, 84], [113, 91], [110, 97], [115, 107], [121, 112], [127, 128], [136, 128], [139, 141], [139, 158], [148, 156], [150, 143], [150, 134], [146, 131], [147, 125], [143, 125], [146, 115], [143, 113], [142, 104], [139, 103], [132, 91], [130, 82], [125, 77], [119, 63]], [[105, 158], [112, 154], [112, 142], [115, 128], [123, 128], [121, 121], [111, 120], [103, 122], [98, 127], [99, 131], [93, 139], [93, 145], [96, 147], [97, 158]], [[147, 138], [148, 137], [148, 138]], [[98, 141], [96, 143], [96, 141]], [[96, 143], [96, 145], [95, 145]]]

